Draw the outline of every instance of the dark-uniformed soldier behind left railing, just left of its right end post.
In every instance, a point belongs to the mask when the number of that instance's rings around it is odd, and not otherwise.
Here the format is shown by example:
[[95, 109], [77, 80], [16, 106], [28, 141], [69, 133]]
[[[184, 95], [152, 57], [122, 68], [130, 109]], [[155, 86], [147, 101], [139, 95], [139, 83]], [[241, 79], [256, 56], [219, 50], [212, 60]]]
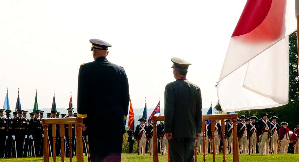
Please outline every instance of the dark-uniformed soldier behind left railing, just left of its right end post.
[[[74, 108], [68, 108], [68, 116], [66, 116], [65, 118], [70, 118], [70, 117], [74, 117]], [[64, 135], [65, 135], [65, 143], [66, 143], [66, 157], [70, 157], [70, 143], [69, 143], [69, 135], [68, 135], [68, 125], [65, 124], [65, 131], [64, 131]], [[74, 156], [75, 154], [75, 124], [72, 125], [72, 145], [71, 145], [71, 150], [72, 150], [72, 156]]]

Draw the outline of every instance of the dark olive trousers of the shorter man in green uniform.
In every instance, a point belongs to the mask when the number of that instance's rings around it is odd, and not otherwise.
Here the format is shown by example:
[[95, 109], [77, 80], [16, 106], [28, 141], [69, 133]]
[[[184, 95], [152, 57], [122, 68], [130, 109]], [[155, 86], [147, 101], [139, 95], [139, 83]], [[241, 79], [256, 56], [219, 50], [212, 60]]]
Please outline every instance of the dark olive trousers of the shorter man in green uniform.
[[194, 162], [195, 138], [177, 138], [168, 141], [171, 162]]

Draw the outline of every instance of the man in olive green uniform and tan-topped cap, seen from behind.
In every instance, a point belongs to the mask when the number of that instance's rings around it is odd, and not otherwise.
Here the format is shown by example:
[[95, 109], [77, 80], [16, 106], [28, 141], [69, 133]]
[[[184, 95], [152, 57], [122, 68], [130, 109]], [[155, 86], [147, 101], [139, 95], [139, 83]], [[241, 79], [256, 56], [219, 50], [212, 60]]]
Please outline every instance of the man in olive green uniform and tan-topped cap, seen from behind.
[[202, 133], [202, 97], [199, 86], [187, 81], [191, 65], [180, 58], [172, 58], [176, 81], [166, 85], [165, 133], [169, 140], [170, 161], [194, 161], [194, 144]]

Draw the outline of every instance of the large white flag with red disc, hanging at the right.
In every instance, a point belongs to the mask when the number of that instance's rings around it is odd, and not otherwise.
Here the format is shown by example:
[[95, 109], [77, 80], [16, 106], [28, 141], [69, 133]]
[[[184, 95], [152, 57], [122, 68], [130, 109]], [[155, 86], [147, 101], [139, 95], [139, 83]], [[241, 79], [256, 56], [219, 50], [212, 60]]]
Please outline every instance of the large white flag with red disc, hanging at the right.
[[294, 1], [248, 0], [217, 85], [224, 112], [288, 103], [288, 35], [296, 30]]

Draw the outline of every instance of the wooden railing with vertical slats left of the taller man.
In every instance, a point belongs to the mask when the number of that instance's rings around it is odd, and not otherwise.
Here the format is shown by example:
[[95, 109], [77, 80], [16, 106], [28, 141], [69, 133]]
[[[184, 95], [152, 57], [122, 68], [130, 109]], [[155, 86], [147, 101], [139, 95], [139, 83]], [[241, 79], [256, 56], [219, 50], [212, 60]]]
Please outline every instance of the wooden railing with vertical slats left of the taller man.
[[[49, 145], [48, 145], [48, 125], [52, 125], [53, 136], [53, 161], [56, 162], [56, 125], [60, 125], [60, 137], [61, 137], [61, 161], [64, 162], [64, 136], [65, 136], [65, 124], [68, 125], [68, 139], [70, 150], [70, 162], [72, 162], [72, 124], [75, 124], [75, 134], [77, 135], [77, 161], [83, 161], [83, 141], [82, 141], [82, 122], [83, 117], [73, 118], [49, 118], [42, 119], [42, 125], [44, 127], [44, 162], [49, 162]], [[67, 141], [66, 141], [67, 142]]]

